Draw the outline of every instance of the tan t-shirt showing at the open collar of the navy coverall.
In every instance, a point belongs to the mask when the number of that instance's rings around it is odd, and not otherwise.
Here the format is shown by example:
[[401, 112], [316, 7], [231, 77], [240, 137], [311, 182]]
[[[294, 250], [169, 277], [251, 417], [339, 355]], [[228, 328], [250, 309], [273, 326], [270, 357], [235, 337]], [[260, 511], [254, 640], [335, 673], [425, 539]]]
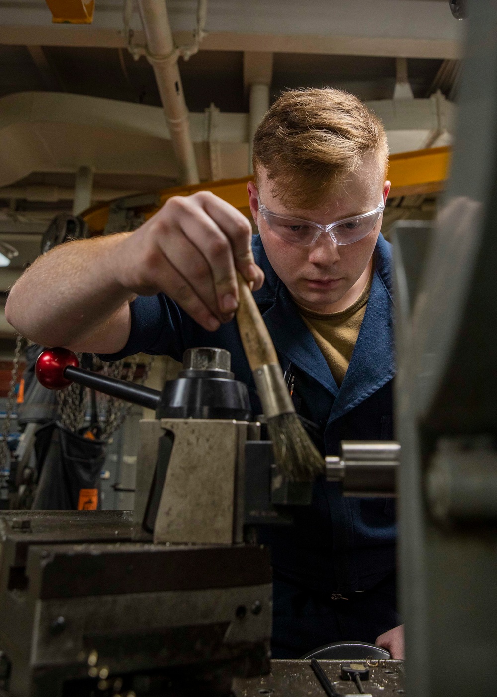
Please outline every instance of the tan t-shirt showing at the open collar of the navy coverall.
[[373, 275], [374, 267], [365, 289], [356, 302], [340, 312], [322, 314], [296, 303], [301, 317], [319, 346], [319, 351], [323, 354], [338, 387], [345, 378], [352, 353], [354, 353], [370, 296]]

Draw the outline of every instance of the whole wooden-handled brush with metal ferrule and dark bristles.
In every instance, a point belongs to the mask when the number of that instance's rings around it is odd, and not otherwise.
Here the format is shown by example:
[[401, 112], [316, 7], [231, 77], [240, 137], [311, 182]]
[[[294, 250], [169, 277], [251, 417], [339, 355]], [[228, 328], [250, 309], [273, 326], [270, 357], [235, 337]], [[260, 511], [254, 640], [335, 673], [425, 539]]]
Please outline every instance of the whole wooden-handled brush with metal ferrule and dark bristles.
[[252, 291], [242, 275], [237, 273], [237, 278], [238, 328], [267, 417], [276, 465], [289, 480], [308, 482], [324, 472], [324, 459], [295, 413], [274, 344]]

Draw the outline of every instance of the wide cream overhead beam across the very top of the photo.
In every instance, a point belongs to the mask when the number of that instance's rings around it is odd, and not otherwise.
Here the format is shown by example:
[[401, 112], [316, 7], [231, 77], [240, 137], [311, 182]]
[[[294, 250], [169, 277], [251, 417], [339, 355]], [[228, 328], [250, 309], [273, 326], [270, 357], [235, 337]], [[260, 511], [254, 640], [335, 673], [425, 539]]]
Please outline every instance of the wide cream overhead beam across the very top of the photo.
[[[0, 0], [0, 43], [124, 47], [123, 1], [97, 0], [93, 24], [52, 24], [43, 0]], [[196, 0], [168, 0], [179, 43]], [[205, 50], [457, 58], [464, 23], [439, 0], [209, 0]], [[132, 28], [143, 43], [138, 15]]]

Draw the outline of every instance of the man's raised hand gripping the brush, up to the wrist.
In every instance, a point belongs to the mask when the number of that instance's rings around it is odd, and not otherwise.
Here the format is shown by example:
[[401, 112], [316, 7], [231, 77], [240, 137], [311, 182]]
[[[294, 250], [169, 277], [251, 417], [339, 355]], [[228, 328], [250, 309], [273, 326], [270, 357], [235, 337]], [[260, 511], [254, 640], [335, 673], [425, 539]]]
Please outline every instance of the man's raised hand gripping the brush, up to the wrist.
[[236, 270], [258, 289], [252, 227], [211, 192], [175, 196], [116, 250], [116, 279], [139, 295], [166, 293], [207, 330], [232, 319]]

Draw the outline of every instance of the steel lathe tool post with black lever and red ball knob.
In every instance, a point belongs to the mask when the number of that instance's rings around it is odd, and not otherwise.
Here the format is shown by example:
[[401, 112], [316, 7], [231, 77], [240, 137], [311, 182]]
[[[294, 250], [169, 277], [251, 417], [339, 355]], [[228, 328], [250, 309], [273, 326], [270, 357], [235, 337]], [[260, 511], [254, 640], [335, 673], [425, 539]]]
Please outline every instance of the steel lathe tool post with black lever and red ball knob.
[[[251, 526], [291, 523], [288, 507], [309, 505], [313, 483], [290, 481], [276, 466], [271, 441], [261, 441], [260, 424], [251, 422], [246, 385], [230, 372], [228, 351], [191, 348], [183, 367], [178, 379], [159, 392], [83, 370], [70, 351], [51, 348], [40, 356], [36, 374], [47, 388], [61, 389], [74, 381], [155, 410], [155, 419], [141, 422], [137, 539], [153, 533], [155, 542], [242, 542], [244, 527], [253, 539]], [[175, 481], [171, 507], [169, 493], [162, 491], [166, 474]], [[205, 521], [198, 525], [201, 512]], [[191, 525], [197, 520], [194, 538], [184, 528], [187, 515]], [[213, 530], [212, 521], [223, 533]], [[169, 529], [164, 539], [162, 525]]]

